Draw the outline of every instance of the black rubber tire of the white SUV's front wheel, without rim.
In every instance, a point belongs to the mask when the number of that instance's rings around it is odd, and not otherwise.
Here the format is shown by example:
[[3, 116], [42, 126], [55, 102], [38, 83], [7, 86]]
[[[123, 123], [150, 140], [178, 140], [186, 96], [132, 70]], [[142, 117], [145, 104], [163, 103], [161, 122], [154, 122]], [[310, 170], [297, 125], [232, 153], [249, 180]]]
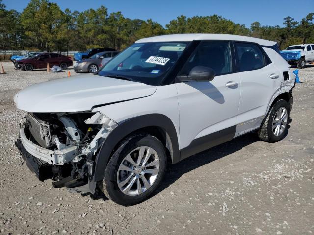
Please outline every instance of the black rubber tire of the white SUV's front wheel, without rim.
[[[140, 146], [151, 147], [157, 152], [160, 164], [159, 173], [155, 182], [149, 189], [139, 195], [129, 196], [124, 194], [118, 187], [118, 168], [124, 157], [132, 150]], [[136, 134], [127, 137], [120, 143], [119, 147], [113, 153], [109, 163], [105, 168], [105, 177], [103, 181], [98, 182], [98, 186], [100, 190], [105, 194], [105, 196], [107, 196], [114, 202], [120, 205], [130, 206], [144, 201], [152, 194], [152, 192], [159, 186], [160, 182], [162, 181], [165, 170], [166, 152], [163, 144], [154, 136], [148, 134]]]

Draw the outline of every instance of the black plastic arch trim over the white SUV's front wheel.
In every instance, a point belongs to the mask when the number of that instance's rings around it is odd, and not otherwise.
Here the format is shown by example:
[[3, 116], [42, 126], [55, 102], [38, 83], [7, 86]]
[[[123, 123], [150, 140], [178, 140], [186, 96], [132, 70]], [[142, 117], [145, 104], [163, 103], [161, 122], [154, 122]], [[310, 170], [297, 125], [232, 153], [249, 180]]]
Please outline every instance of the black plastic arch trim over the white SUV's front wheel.
[[[126, 136], [132, 132], [139, 130], [144, 127], [157, 126], [165, 130], [168, 134], [171, 145], [172, 145], [172, 163], [177, 163], [180, 160], [179, 142], [176, 132], [176, 128], [173, 125], [170, 118], [162, 114], [148, 114], [142, 115], [135, 118], [130, 118], [125, 120], [108, 135], [108, 137], [103, 142], [100, 151], [98, 152], [95, 159], [95, 171], [92, 181], [96, 183], [100, 181], [105, 176], [105, 167], [111, 157], [111, 153], [114, 147], [123, 140]], [[90, 182], [91, 184], [92, 182]]]

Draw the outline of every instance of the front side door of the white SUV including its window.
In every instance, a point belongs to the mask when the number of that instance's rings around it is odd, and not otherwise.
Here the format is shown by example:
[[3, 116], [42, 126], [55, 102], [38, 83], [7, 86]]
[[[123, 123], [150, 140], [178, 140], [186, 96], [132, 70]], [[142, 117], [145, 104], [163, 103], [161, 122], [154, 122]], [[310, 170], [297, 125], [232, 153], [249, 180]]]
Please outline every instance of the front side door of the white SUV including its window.
[[210, 82], [177, 82], [182, 158], [229, 141], [235, 135], [240, 100], [240, 79], [235, 71], [230, 42], [201, 42], [178, 76], [195, 66], [216, 73]]

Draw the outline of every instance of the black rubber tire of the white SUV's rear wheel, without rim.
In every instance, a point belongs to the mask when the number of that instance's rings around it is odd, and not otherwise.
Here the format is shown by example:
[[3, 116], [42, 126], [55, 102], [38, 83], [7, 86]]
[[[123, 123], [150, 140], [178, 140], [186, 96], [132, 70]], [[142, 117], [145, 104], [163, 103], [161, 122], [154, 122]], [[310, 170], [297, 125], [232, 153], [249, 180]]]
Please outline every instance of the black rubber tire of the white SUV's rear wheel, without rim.
[[[283, 130], [283, 132], [276, 136], [273, 132], [273, 119], [274, 116], [276, 115], [276, 112], [281, 108], [284, 107], [287, 110], [287, 123], [286, 126]], [[288, 133], [288, 124], [289, 124], [289, 119], [290, 119], [290, 108], [289, 108], [289, 104], [287, 103], [287, 101], [283, 100], [283, 99], [279, 99], [269, 110], [267, 116], [265, 117], [265, 119], [262, 122], [262, 125], [260, 127], [260, 130], [258, 132], [259, 138], [262, 141], [266, 141], [266, 142], [277, 142], [282, 140]]]

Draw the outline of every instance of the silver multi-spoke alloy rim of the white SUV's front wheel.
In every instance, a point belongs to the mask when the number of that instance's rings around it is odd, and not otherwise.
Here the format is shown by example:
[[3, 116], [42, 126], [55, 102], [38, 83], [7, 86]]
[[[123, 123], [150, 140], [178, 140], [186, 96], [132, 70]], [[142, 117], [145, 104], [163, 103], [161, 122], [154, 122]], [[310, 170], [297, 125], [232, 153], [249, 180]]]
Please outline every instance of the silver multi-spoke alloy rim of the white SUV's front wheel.
[[157, 179], [159, 173], [157, 152], [147, 146], [141, 146], [128, 153], [117, 172], [118, 187], [126, 195], [137, 196], [147, 191]]

